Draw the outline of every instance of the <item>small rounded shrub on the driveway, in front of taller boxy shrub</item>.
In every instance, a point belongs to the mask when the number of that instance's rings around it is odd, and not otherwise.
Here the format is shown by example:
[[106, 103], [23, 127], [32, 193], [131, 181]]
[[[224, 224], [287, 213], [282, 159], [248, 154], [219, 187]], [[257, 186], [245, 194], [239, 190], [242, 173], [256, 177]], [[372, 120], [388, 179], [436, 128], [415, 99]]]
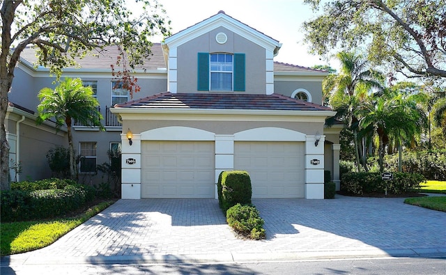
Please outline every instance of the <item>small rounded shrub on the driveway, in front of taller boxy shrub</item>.
[[237, 233], [251, 239], [265, 239], [263, 219], [259, 210], [252, 205], [236, 205], [230, 207], [226, 212], [226, 221]]

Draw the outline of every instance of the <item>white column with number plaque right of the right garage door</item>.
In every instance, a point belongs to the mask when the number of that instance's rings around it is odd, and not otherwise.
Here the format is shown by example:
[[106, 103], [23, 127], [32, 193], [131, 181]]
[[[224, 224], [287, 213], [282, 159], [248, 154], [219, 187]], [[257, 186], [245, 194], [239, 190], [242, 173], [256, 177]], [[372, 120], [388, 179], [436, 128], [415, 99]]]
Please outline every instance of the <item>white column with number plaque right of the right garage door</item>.
[[305, 198], [324, 198], [324, 156], [325, 136], [316, 144], [316, 136], [307, 135], [305, 141]]

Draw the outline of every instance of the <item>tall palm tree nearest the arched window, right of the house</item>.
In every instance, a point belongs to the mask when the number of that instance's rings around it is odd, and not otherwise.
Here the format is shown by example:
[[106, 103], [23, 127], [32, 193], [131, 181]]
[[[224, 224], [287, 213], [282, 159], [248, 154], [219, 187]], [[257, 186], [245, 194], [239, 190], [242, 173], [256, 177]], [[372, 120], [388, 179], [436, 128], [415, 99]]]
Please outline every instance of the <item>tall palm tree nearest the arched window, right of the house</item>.
[[[360, 149], [358, 132], [358, 119], [354, 110], [374, 89], [376, 93], [383, 91], [383, 74], [369, 68], [368, 61], [361, 55], [351, 52], [339, 52], [336, 55], [341, 63], [339, 74], [330, 74], [323, 81], [324, 97], [329, 99], [330, 106], [337, 111], [336, 119], [343, 120], [353, 132], [355, 144], [355, 158], [357, 169], [360, 171]], [[365, 154], [361, 152], [365, 157]], [[366, 163], [362, 165], [367, 170]]]

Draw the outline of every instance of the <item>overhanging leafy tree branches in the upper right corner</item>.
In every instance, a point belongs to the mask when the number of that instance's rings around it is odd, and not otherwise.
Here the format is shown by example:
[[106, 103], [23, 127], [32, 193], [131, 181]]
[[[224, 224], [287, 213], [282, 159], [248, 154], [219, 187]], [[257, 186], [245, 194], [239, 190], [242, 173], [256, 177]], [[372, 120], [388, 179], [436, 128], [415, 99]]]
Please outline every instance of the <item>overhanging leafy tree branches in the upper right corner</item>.
[[446, 77], [445, 0], [305, 0], [310, 52], [361, 49], [375, 64], [410, 76]]

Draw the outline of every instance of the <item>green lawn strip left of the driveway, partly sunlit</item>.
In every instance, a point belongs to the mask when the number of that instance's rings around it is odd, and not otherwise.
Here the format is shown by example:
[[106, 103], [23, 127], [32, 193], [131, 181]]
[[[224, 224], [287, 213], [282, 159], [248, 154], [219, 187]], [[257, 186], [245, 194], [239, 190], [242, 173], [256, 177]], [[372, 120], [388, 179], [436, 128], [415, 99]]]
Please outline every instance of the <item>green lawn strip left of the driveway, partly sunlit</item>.
[[70, 219], [1, 223], [1, 256], [23, 253], [48, 246], [113, 203], [114, 201], [102, 202], [86, 210], [84, 214]]

